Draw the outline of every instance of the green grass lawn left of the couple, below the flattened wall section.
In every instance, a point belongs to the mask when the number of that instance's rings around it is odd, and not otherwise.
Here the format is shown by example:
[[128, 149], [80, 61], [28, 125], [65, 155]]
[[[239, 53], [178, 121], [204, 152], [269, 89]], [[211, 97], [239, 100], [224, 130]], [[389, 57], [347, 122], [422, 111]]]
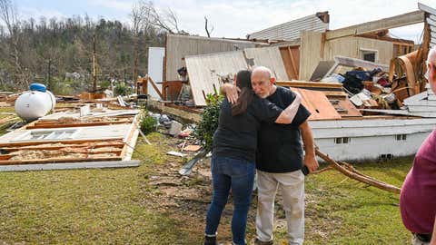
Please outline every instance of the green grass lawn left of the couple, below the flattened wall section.
[[[153, 135], [150, 137], [155, 142]], [[139, 147], [156, 159], [152, 147]], [[148, 149], [150, 148], [150, 149]], [[142, 156], [134, 155], [134, 158]], [[164, 160], [164, 159], [163, 159]], [[144, 201], [139, 168], [0, 172], [0, 244], [193, 244], [182, 220]]]

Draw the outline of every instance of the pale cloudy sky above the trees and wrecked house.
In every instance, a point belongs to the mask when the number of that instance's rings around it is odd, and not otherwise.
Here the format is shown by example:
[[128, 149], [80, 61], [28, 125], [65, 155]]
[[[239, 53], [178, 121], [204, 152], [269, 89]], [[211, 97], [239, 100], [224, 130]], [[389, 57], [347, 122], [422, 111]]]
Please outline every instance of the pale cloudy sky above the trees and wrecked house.
[[[12, 0], [14, 1], [14, 0]], [[90, 15], [94, 19], [129, 22], [133, 0], [15, 0], [21, 17], [63, 18]], [[278, 25], [316, 12], [329, 11], [330, 29], [360, 24], [418, 9], [412, 0], [155, 0], [161, 9], [171, 8], [179, 18], [180, 28], [190, 34], [205, 35], [204, 15], [212, 23], [215, 37], [241, 37], [272, 25]], [[436, 8], [436, 0], [421, 0]], [[410, 25], [391, 30], [391, 35], [415, 42], [422, 33], [422, 25]]]

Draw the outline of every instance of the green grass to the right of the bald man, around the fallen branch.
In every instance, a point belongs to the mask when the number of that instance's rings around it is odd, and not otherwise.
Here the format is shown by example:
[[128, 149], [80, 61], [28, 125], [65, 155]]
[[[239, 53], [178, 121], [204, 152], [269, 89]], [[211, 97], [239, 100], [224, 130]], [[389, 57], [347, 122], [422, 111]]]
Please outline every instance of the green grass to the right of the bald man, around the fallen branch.
[[[401, 187], [412, 158], [365, 162], [355, 167], [378, 180]], [[305, 244], [408, 244], [399, 194], [381, 191], [324, 171], [306, 179]]]

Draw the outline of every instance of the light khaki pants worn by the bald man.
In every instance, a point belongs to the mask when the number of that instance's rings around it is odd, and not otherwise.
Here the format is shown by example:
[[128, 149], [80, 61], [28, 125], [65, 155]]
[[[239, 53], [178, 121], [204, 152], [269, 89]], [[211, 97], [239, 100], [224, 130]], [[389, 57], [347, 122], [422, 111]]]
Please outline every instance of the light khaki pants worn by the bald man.
[[284, 173], [257, 171], [257, 185], [257, 238], [262, 241], [273, 239], [274, 199], [280, 186], [289, 244], [302, 244], [304, 240], [304, 175], [302, 171]]

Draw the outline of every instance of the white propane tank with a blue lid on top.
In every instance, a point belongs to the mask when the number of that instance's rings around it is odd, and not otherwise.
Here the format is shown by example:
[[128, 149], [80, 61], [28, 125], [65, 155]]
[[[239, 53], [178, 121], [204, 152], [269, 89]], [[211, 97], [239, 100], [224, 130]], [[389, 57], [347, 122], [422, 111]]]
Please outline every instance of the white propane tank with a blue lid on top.
[[56, 105], [53, 93], [41, 83], [32, 83], [30, 91], [21, 94], [15, 101], [15, 113], [27, 122], [45, 116]]

